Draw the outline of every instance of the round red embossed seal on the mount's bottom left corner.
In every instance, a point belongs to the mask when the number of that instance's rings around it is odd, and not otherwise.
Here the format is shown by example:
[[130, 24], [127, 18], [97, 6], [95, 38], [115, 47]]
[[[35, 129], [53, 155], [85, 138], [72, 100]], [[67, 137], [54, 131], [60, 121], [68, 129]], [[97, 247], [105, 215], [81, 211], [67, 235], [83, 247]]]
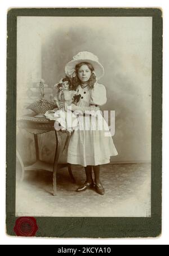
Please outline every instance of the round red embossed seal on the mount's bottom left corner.
[[34, 217], [19, 217], [15, 222], [14, 232], [17, 236], [35, 236], [38, 230]]

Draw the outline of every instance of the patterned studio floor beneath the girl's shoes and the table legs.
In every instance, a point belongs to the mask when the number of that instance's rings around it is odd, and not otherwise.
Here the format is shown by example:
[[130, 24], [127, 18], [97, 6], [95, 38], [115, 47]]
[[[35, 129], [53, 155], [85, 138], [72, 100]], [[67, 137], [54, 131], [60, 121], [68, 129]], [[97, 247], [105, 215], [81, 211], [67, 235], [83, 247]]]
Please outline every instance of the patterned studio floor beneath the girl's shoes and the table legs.
[[[17, 165], [17, 171], [20, 166]], [[16, 181], [17, 216], [51, 217], [150, 217], [151, 165], [108, 164], [101, 166], [105, 195], [94, 189], [76, 192], [84, 182], [82, 166], [72, 165], [76, 183], [66, 167], [57, 171], [57, 195], [52, 195], [52, 173], [27, 171]]]

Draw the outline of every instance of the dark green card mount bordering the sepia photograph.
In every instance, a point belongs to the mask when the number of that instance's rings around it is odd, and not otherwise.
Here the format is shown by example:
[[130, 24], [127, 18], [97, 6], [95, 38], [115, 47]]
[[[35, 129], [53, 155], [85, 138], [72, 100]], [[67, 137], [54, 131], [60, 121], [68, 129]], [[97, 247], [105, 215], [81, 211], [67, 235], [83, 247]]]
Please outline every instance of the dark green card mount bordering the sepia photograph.
[[162, 11], [159, 8], [12, 8], [7, 14], [6, 228], [15, 236], [17, 16], [152, 16], [151, 217], [35, 217], [39, 237], [156, 237], [162, 204]]

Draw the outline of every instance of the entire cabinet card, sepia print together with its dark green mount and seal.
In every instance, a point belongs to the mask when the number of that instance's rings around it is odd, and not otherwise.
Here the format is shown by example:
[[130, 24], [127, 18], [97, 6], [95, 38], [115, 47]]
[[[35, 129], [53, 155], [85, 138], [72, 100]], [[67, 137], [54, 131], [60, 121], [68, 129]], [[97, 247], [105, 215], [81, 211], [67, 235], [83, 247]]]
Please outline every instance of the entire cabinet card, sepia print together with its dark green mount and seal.
[[152, 8], [8, 11], [10, 235], [24, 217], [35, 220], [36, 236], [159, 235], [161, 16]]

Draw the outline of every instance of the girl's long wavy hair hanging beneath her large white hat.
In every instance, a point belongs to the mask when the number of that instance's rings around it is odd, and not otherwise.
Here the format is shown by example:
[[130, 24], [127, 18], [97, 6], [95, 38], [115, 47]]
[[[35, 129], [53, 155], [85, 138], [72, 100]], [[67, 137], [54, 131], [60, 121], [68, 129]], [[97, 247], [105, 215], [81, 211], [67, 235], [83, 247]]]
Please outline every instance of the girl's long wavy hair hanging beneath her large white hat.
[[76, 90], [78, 85], [81, 84], [81, 80], [79, 80], [77, 73], [78, 73], [79, 68], [82, 67], [82, 65], [87, 65], [87, 67], [91, 70], [91, 76], [88, 80], [88, 85], [90, 86], [91, 89], [94, 87], [94, 84], [96, 82], [96, 76], [95, 76], [95, 73], [93, 73], [94, 67], [88, 62], [81, 62], [75, 66], [76, 76], [72, 78], [72, 90]]

